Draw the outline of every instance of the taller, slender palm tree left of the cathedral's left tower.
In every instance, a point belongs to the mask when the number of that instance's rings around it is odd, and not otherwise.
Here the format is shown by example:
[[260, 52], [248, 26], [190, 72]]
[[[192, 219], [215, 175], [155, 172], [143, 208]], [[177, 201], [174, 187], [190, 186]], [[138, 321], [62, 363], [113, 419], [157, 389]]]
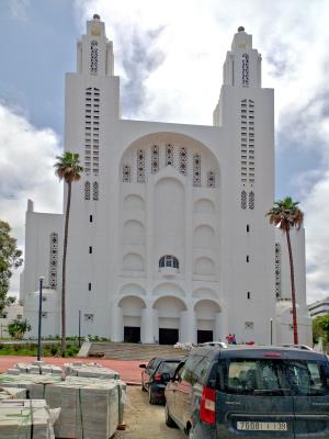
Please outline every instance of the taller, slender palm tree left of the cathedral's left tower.
[[66, 349], [66, 256], [68, 244], [68, 226], [70, 217], [71, 191], [72, 182], [81, 178], [83, 168], [79, 164], [79, 154], [66, 151], [63, 156], [56, 157], [57, 161], [54, 165], [55, 173], [59, 180], [65, 180], [67, 183], [67, 202], [64, 229], [64, 246], [63, 246], [63, 269], [61, 269], [61, 349]]

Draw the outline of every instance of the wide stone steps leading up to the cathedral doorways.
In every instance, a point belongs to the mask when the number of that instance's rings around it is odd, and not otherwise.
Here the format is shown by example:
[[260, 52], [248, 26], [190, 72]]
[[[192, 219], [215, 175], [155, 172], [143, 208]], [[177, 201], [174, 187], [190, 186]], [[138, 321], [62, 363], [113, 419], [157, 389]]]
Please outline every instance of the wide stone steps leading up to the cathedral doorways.
[[152, 357], [183, 357], [188, 352], [168, 345], [139, 345], [128, 342], [92, 342], [88, 357], [115, 360], [150, 360]]

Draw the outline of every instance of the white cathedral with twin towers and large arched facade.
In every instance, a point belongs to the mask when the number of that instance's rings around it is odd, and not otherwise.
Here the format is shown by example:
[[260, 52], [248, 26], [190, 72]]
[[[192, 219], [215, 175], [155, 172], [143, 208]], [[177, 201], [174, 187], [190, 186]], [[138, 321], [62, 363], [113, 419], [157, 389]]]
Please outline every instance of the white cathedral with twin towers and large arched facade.
[[[261, 55], [238, 29], [213, 126], [121, 117], [113, 45], [94, 15], [66, 77], [65, 148], [79, 153], [67, 260], [67, 330], [113, 341], [293, 342], [285, 237], [274, 201], [274, 95]], [[55, 158], [54, 158], [55, 159]], [[55, 176], [54, 176], [55, 178]], [[64, 206], [66, 205], [66, 194]], [[64, 214], [29, 200], [24, 316], [60, 334]], [[311, 344], [304, 229], [292, 233], [299, 342]]]

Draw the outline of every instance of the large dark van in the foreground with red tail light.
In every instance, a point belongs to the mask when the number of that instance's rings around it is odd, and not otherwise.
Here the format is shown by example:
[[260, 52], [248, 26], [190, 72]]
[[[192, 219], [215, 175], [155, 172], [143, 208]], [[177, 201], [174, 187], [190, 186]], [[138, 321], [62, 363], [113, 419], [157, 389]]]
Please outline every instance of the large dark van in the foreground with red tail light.
[[166, 389], [190, 439], [329, 438], [329, 362], [296, 348], [196, 348]]

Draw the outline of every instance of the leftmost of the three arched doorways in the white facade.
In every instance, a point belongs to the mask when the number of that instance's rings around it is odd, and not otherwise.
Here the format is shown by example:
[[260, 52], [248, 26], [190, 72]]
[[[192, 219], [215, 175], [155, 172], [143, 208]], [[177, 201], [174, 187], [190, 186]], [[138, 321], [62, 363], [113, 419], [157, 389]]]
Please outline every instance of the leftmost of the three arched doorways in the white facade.
[[146, 307], [144, 301], [136, 296], [127, 296], [118, 302], [118, 306], [123, 315], [124, 341], [140, 342], [141, 309]]

